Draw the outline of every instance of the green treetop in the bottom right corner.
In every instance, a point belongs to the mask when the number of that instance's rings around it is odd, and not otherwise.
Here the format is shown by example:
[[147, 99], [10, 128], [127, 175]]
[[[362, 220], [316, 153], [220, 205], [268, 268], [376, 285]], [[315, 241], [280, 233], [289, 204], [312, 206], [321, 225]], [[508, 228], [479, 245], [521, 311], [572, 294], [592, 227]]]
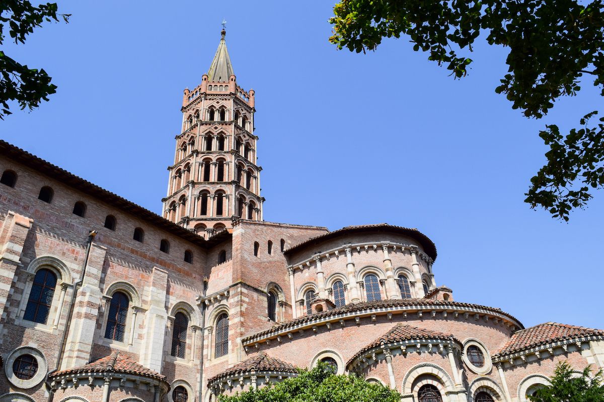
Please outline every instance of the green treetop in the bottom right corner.
[[579, 377], [574, 376], [568, 362], [556, 366], [550, 385], [539, 388], [528, 399], [532, 402], [604, 402], [602, 371], [591, 377], [589, 367]]

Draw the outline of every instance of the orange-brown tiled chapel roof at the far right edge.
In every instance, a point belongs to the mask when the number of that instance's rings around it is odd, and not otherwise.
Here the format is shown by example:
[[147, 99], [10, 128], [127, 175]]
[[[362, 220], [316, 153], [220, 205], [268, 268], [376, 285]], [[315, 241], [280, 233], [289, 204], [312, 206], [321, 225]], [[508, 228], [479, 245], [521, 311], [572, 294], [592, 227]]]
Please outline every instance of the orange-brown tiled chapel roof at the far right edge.
[[598, 335], [604, 336], [604, 330], [559, 324], [557, 322], [545, 322], [544, 324], [535, 325], [535, 327], [516, 331], [512, 335], [512, 338], [493, 357], [500, 357], [504, 354], [514, 353], [551, 342]]

